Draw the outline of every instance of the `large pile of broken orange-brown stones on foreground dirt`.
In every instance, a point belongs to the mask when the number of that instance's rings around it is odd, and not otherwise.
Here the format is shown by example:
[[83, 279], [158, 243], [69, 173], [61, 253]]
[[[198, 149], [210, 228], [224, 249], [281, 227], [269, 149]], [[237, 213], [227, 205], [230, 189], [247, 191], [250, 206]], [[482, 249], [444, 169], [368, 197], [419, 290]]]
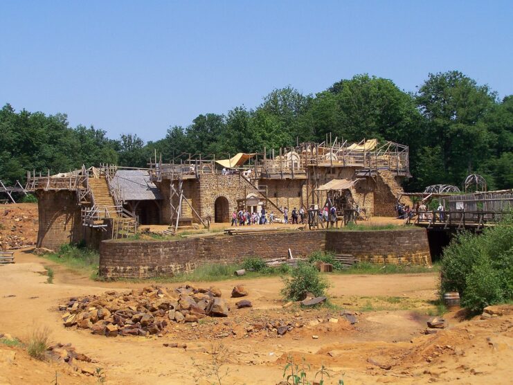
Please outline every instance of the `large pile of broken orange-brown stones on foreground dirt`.
[[60, 305], [66, 327], [76, 325], [107, 337], [162, 335], [171, 323], [196, 323], [206, 316], [228, 316], [228, 304], [216, 287], [183, 284], [176, 289], [152, 285], [131, 292], [70, 298]]

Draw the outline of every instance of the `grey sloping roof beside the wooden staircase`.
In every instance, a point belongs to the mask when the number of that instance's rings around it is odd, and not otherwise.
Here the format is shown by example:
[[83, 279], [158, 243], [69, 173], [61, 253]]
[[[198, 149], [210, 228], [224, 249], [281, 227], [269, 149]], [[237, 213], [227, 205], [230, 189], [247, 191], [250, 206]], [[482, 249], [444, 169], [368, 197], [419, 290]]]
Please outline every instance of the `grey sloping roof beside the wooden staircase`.
[[145, 170], [118, 170], [112, 181], [116, 188], [119, 186], [124, 201], [162, 199], [159, 189], [150, 181], [150, 175]]

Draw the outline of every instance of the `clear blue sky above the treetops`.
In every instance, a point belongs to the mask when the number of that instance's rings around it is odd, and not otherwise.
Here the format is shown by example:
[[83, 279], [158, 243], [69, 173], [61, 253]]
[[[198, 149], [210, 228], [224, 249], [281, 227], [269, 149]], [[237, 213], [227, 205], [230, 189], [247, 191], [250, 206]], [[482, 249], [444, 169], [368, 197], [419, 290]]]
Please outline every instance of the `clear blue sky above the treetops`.
[[111, 138], [369, 73], [458, 69], [513, 93], [513, 1], [1, 1], [0, 105]]

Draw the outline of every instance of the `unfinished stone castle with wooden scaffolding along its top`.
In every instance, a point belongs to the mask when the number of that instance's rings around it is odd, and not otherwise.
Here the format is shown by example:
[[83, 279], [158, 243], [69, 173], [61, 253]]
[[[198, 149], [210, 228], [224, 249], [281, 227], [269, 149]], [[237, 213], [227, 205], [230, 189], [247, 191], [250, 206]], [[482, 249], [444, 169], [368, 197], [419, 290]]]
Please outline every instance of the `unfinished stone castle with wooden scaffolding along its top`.
[[27, 177], [26, 190], [39, 202], [37, 246], [56, 249], [80, 241], [95, 247], [136, 233], [139, 224], [230, 222], [242, 208], [280, 217], [283, 208], [322, 207], [334, 191], [362, 215], [394, 216], [411, 174], [406, 145], [335, 138], [227, 159], [181, 154], [165, 163], [155, 156], [148, 168], [100, 165]]

